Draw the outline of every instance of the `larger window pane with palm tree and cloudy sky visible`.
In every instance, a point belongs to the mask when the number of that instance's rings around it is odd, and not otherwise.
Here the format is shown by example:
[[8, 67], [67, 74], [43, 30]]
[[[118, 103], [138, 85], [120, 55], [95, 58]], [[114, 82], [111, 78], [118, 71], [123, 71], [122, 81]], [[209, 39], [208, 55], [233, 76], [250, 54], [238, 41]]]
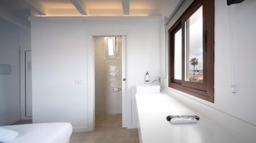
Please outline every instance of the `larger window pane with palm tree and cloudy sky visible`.
[[203, 82], [203, 6], [185, 21], [185, 80]]

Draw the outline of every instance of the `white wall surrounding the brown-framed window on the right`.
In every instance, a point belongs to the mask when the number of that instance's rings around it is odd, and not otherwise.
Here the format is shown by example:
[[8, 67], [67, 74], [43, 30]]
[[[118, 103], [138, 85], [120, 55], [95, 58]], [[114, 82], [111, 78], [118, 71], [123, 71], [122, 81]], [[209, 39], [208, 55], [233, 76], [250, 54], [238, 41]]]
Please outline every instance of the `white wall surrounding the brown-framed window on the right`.
[[[185, 1], [184, 5], [170, 21], [166, 30], [177, 20], [191, 1]], [[199, 101], [207, 106], [221, 110], [228, 115], [239, 118], [245, 122], [256, 125], [256, 1], [248, 0], [241, 4], [231, 5], [234, 49], [234, 73], [236, 77], [237, 93], [230, 91], [230, 49], [229, 49], [229, 24], [228, 7], [226, 1], [215, 1], [215, 103], [210, 103], [194, 96], [177, 92], [168, 88], [167, 80], [164, 80], [165, 91], [170, 95], [183, 100], [181, 96], [189, 97], [191, 103]], [[162, 70], [165, 68], [162, 67]]]

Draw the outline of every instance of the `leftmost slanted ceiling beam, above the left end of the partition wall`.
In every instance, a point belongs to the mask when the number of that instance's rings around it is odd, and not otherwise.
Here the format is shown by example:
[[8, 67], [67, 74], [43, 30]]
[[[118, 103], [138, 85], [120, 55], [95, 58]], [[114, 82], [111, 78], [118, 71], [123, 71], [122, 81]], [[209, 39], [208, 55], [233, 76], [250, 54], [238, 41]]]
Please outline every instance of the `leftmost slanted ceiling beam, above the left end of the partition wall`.
[[35, 13], [46, 16], [46, 12], [44, 11], [44, 7], [39, 1], [29, 1], [29, 0], [22, 0], [24, 5], [26, 5], [29, 9], [34, 11]]

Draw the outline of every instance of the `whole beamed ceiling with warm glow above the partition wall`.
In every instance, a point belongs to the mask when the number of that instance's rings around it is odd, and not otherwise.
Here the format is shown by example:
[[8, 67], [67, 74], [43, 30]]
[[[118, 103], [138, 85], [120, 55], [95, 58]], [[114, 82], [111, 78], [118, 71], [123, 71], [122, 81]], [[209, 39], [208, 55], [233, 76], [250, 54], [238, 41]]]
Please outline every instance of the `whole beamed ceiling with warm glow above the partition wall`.
[[166, 16], [178, 1], [0, 0], [0, 18], [29, 28], [28, 16]]

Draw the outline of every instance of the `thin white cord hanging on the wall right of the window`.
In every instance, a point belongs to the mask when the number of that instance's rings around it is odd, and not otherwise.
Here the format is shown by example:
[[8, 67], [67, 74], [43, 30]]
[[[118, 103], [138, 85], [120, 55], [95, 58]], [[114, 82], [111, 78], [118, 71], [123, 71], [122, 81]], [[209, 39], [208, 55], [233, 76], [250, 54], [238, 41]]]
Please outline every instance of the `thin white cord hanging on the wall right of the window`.
[[233, 25], [230, 6], [228, 6], [228, 24], [229, 24], [229, 50], [230, 50], [230, 90], [236, 93], [236, 76], [234, 74], [234, 46], [233, 46]]

